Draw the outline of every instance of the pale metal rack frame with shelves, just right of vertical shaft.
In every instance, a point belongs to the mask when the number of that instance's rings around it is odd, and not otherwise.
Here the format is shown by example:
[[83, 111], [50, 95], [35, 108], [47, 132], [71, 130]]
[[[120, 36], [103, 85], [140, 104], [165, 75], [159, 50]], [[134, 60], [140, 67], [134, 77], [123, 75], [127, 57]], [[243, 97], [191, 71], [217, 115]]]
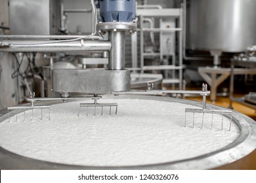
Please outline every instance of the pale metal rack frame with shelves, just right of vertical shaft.
[[[179, 84], [179, 90], [182, 90], [182, 8], [166, 8], [166, 9], [137, 9], [137, 16], [139, 17], [140, 26], [143, 25], [144, 17], [155, 17], [160, 18], [160, 25], [161, 25], [161, 18], [171, 17], [171, 18], [178, 18], [179, 20], [179, 27], [177, 28], [167, 28], [167, 29], [161, 29], [161, 28], [143, 28], [140, 27], [138, 31], [140, 31], [140, 71], [141, 73], [144, 73], [145, 70], [171, 70], [173, 71], [172, 78], [165, 78], [163, 79], [163, 84]], [[160, 53], [144, 53], [144, 32], [159, 32], [160, 33], [160, 41], [162, 41], [162, 33], [163, 32], [173, 32], [177, 31], [179, 33], [179, 65], [175, 66], [175, 60], [173, 60], [173, 65], [160, 65], [158, 66], [152, 66], [151, 68], [148, 66], [144, 66], [144, 56], [159, 56], [160, 59], [163, 59], [163, 53], [162, 48], [160, 44]], [[134, 44], [136, 44], [136, 41], [132, 39], [133, 41], [133, 50], [135, 48]], [[137, 67], [137, 52], [133, 53], [133, 67]], [[139, 70], [139, 69], [138, 69]], [[179, 77], [175, 78], [175, 71], [179, 72]]]

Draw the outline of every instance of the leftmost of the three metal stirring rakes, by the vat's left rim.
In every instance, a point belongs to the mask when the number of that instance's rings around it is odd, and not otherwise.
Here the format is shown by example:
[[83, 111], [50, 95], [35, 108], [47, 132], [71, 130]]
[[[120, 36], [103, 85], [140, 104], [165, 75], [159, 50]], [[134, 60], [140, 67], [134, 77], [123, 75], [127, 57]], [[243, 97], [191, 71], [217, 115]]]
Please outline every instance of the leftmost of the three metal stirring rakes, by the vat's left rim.
[[8, 114], [9, 114], [9, 122], [11, 122], [11, 118], [10, 118], [10, 113], [9, 110], [15, 110], [16, 111], [16, 122], [18, 122], [18, 110], [24, 110], [24, 121], [26, 120], [26, 110], [30, 110], [32, 109], [32, 120], [33, 120], [33, 110], [34, 109], [41, 109], [41, 120], [43, 120], [43, 109], [49, 109], [49, 120], [51, 119], [51, 114], [50, 114], [50, 106], [49, 105], [38, 105], [35, 106], [34, 105], [34, 100], [33, 98], [35, 97], [35, 92], [30, 92], [30, 106], [16, 106], [16, 107], [8, 107]]

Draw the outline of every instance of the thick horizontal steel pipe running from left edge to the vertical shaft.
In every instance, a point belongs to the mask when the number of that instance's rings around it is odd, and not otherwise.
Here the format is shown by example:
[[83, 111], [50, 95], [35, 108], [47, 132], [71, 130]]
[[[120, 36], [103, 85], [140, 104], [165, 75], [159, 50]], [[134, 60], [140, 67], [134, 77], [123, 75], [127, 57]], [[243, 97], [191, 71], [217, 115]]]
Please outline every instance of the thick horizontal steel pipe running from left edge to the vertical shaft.
[[110, 51], [109, 41], [0, 41], [1, 52], [103, 52]]

